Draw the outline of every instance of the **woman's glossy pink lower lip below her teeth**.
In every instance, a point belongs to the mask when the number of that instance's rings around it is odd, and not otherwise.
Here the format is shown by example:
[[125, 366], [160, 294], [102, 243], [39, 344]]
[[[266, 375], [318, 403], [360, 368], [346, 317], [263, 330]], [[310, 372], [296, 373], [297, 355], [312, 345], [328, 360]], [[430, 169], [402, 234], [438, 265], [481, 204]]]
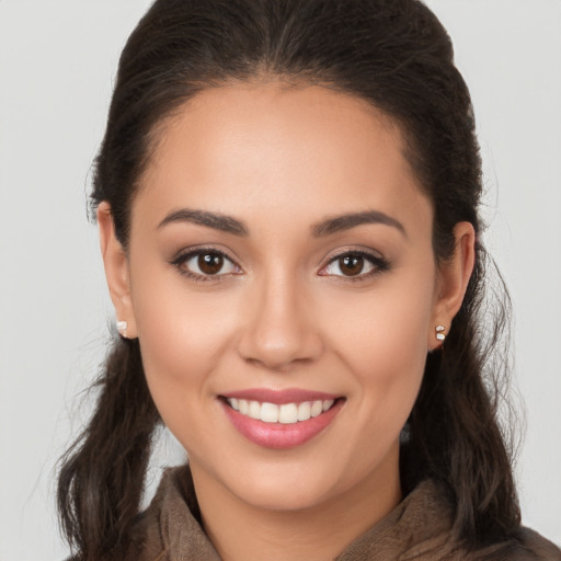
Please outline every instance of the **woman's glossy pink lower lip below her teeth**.
[[318, 416], [293, 424], [264, 423], [242, 415], [222, 400], [220, 402], [232, 425], [245, 438], [265, 448], [285, 449], [300, 446], [324, 431], [340, 412], [344, 400], [336, 400], [331, 409]]

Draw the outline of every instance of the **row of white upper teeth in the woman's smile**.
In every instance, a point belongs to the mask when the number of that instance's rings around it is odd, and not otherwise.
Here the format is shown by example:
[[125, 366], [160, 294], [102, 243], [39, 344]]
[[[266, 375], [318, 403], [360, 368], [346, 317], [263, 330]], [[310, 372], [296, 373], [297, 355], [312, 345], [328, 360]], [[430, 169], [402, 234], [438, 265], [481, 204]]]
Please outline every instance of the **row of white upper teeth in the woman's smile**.
[[327, 399], [324, 401], [304, 401], [301, 403], [276, 405], [275, 403], [261, 403], [236, 398], [228, 398], [227, 401], [233, 410], [239, 411], [242, 415], [261, 420], [264, 423], [287, 425], [321, 415], [321, 413], [329, 411], [335, 402], [332, 399]]

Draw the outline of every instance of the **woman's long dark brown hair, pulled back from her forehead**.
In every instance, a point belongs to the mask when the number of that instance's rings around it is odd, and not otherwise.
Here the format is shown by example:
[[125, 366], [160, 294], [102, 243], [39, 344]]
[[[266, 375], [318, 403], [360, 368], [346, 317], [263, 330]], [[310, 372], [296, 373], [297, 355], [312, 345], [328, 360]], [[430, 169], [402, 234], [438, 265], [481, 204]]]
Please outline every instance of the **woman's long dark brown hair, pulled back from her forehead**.
[[[481, 162], [471, 101], [446, 31], [421, 1], [157, 0], [123, 50], [94, 167], [92, 209], [110, 203], [125, 248], [131, 197], [159, 125], [205, 88], [262, 76], [329, 85], [386, 113], [433, 202], [436, 257], [451, 255], [459, 221], [471, 222], [479, 239]], [[427, 356], [402, 432], [405, 491], [425, 478], [440, 482], [470, 549], [512, 538], [520, 523], [497, 422], [505, 371], [489, 359], [507, 323], [508, 297], [499, 277], [502, 296], [485, 299], [486, 263], [478, 241], [462, 307], [444, 352]], [[62, 458], [58, 482], [61, 527], [81, 561], [126, 550], [161, 422], [138, 342], [116, 337], [96, 385], [95, 413]]]

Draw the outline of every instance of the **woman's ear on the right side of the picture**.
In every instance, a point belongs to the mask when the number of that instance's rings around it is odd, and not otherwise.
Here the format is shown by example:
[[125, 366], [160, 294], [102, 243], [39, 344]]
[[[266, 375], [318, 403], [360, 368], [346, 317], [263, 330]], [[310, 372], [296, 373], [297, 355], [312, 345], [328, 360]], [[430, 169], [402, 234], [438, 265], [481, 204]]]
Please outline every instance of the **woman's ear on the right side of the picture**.
[[438, 285], [433, 311], [433, 324], [428, 329], [428, 348], [440, 346], [436, 327], [444, 327], [446, 335], [451, 320], [458, 313], [476, 263], [476, 231], [470, 222], [454, 227], [455, 250], [449, 260], [438, 266]]

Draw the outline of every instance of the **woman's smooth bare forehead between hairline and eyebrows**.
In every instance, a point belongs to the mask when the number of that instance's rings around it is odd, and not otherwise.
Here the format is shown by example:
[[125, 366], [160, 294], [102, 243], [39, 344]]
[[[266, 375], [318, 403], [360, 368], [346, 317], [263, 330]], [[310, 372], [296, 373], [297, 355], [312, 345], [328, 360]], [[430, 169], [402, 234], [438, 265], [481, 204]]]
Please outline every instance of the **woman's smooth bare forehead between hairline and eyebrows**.
[[153, 220], [182, 206], [308, 221], [431, 214], [389, 117], [325, 87], [278, 83], [207, 89], [185, 103], [160, 128], [135, 206]]

